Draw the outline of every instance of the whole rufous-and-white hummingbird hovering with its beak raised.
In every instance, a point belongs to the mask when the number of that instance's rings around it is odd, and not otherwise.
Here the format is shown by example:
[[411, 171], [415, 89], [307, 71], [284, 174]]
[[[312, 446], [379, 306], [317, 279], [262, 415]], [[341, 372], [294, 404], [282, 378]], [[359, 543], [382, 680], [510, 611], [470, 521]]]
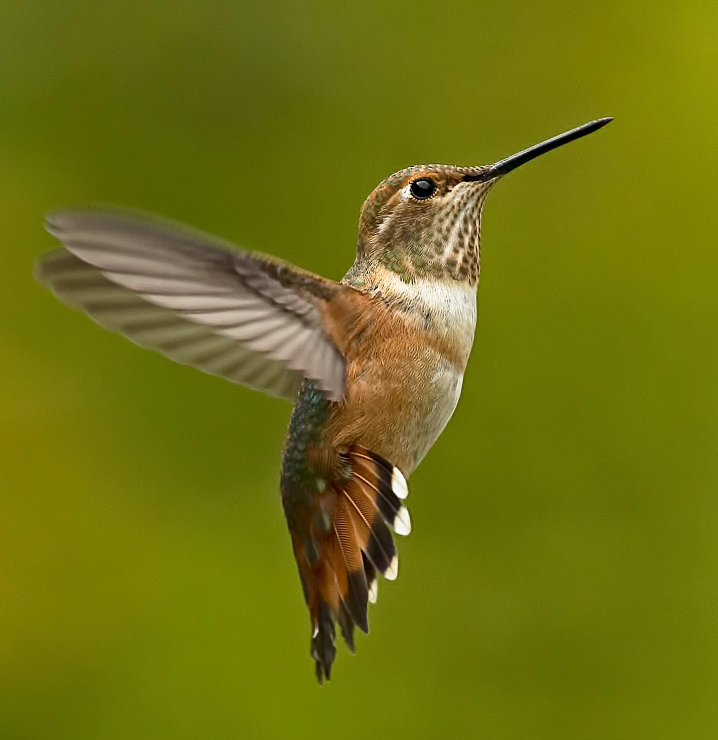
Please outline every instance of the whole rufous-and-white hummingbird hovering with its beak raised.
[[179, 363], [294, 403], [280, 492], [319, 683], [367, 633], [377, 577], [396, 579], [407, 478], [447, 425], [476, 326], [481, 212], [512, 169], [603, 127], [495, 164], [390, 175], [362, 206], [339, 282], [123, 210], [50, 213], [61, 247], [35, 276], [98, 324]]

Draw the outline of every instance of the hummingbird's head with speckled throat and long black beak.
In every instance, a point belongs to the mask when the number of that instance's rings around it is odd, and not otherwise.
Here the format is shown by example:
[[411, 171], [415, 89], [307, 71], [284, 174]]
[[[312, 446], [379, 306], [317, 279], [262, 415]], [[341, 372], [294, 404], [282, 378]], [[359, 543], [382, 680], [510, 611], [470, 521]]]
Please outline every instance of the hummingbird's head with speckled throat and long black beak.
[[357, 263], [381, 264], [406, 282], [430, 277], [475, 285], [481, 209], [492, 185], [521, 164], [611, 120], [591, 121], [495, 164], [424, 164], [395, 172], [362, 206]]

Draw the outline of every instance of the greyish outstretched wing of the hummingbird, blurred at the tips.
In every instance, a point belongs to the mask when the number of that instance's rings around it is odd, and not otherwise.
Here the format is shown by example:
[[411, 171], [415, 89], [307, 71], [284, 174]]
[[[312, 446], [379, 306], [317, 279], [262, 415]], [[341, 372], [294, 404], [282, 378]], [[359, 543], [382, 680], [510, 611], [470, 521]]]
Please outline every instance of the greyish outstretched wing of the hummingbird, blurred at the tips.
[[346, 286], [122, 212], [53, 213], [47, 230], [64, 248], [43, 255], [35, 276], [106, 329], [291, 401], [305, 377], [342, 398], [345, 360], [322, 313]]

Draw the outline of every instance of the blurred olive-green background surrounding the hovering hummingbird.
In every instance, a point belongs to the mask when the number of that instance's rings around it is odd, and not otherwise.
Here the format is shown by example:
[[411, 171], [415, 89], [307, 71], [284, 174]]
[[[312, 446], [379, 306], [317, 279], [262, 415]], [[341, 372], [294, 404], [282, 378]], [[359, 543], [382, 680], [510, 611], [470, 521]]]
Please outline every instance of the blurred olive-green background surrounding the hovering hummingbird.
[[[716, 736], [717, 28], [713, 0], [6, 0], [0, 737]], [[319, 688], [290, 406], [61, 306], [43, 212], [137, 206], [338, 278], [390, 172], [600, 115], [489, 198], [401, 577]]]

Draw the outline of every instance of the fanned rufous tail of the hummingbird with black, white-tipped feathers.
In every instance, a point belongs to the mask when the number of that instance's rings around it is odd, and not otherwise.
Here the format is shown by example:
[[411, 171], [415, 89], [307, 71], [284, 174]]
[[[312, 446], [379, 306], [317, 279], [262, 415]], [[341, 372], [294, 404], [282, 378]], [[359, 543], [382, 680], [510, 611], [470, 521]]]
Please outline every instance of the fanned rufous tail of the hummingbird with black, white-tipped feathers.
[[396, 579], [399, 559], [389, 527], [409, 534], [402, 499], [407, 483], [399, 468], [353, 445], [342, 455], [346, 474], [331, 482], [312, 517], [311, 536], [294, 537], [294, 554], [312, 625], [311, 656], [319, 683], [329, 679], [336, 656], [335, 624], [353, 653], [354, 627], [368, 633], [368, 602], [376, 602], [377, 573]]

